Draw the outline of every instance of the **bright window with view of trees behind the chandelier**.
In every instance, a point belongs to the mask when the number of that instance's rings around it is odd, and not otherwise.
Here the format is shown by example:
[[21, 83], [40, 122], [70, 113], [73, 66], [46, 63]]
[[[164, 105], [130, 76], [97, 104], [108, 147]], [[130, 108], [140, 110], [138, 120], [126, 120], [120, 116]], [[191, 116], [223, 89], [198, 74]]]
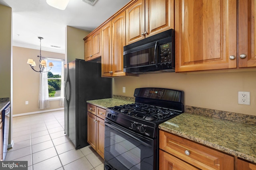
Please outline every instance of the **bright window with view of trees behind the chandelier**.
[[47, 58], [47, 65], [49, 65], [50, 62], [52, 62], [54, 66], [47, 72], [49, 99], [59, 99], [63, 61], [61, 59]]

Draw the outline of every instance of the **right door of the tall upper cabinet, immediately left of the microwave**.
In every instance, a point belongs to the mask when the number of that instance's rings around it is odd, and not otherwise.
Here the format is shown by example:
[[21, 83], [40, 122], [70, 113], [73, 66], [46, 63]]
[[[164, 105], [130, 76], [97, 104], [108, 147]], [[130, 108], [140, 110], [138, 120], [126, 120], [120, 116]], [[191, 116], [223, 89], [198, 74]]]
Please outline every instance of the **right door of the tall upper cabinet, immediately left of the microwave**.
[[125, 76], [124, 72], [125, 45], [125, 11], [112, 20], [112, 76]]

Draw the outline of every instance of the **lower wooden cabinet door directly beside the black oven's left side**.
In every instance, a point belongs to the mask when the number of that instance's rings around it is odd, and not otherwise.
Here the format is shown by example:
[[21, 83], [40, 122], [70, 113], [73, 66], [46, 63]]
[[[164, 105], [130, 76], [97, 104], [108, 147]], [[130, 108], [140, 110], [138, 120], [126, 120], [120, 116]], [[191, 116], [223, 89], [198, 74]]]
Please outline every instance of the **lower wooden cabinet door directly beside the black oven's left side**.
[[104, 120], [97, 117], [97, 153], [104, 158], [104, 138], [105, 138], [105, 124]]

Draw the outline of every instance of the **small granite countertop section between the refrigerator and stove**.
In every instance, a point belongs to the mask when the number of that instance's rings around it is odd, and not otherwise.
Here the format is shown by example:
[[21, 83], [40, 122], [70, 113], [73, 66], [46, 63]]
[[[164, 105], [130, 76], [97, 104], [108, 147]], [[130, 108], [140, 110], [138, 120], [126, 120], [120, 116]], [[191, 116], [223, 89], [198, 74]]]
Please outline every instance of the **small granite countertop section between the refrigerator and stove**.
[[98, 100], [88, 100], [86, 101], [89, 104], [101, 107], [103, 109], [107, 109], [107, 107], [120, 106], [123, 104], [131, 104], [130, 100], [122, 100], [116, 98], [107, 98], [107, 99], [98, 99]]

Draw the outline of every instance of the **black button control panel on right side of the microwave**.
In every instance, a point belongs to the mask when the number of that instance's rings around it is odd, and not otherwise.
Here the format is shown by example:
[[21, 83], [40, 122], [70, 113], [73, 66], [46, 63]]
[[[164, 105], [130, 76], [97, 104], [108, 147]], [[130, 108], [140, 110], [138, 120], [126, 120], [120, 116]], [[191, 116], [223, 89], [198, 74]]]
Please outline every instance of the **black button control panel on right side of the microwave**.
[[160, 45], [160, 63], [172, 62], [172, 43]]

